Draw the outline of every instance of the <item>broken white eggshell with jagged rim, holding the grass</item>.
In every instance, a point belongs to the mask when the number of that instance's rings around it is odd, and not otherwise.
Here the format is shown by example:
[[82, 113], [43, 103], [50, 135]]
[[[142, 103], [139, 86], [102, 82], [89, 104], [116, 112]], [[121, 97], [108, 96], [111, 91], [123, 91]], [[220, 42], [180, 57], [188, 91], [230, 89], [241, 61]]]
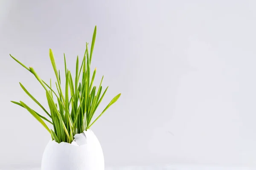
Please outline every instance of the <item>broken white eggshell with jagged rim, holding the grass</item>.
[[50, 141], [43, 154], [41, 170], [104, 170], [102, 147], [92, 130], [76, 134], [74, 141]]

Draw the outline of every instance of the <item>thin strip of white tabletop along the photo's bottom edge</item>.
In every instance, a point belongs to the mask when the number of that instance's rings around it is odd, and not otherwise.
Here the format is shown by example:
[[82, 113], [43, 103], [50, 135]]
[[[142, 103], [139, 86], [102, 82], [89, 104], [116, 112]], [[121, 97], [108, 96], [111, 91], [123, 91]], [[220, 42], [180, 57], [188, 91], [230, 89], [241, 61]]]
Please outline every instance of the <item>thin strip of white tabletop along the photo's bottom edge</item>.
[[[0, 170], [40, 170], [40, 168], [0, 169]], [[212, 167], [196, 165], [166, 165], [166, 166], [130, 166], [106, 167], [105, 170], [256, 170], [256, 167]]]

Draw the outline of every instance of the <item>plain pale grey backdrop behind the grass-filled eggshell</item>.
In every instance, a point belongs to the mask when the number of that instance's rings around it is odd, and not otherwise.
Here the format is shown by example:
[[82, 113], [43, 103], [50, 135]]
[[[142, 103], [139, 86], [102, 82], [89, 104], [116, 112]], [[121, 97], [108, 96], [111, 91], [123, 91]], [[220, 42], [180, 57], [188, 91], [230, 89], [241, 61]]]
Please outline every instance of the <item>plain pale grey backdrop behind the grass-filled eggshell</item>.
[[47, 131], [10, 100], [47, 106], [49, 48], [74, 73], [98, 27], [92, 67], [110, 86], [92, 129], [107, 166], [256, 166], [254, 0], [0, 0], [0, 167], [36, 167]]

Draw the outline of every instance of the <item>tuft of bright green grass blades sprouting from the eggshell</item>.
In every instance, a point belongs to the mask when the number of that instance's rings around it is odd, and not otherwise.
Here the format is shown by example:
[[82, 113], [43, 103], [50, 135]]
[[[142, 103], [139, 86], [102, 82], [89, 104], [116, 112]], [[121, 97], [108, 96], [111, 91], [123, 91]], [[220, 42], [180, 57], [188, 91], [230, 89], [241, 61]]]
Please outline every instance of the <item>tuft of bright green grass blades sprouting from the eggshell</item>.
[[[71, 143], [73, 141], [73, 137], [77, 133], [82, 133], [84, 130], [89, 129], [102, 114], [117, 101], [121, 94], [115, 96], [111, 102], [107, 105], [107, 107], [102, 111], [102, 113], [91, 123], [93, 119], [93, 115], [98, 108], [100, 102], [102, 101], [108, 87], [102, 94], [102, 80], [99, 85], [99, 88], [93, 86], [93, 80], [96, 74], [96, 68], [93, 71], [92, 78], [90, 79], [90, 62], [92, 59], [94, 42], [96, 38], [96, 26], [93, 32], [93, 40], [91, 44], [91, 48], [89, 51], [88, 43], [86, 42], [86, 50], [84, 53], [83, 60], [81, 62], [81, 66], [79, 68], [79, 57], [76, 58], [76, 76], [73, 81], [70, 71], [67, 69], [66, 58], [64, 54], [64, 63], [65, 63], [65, 89], [61, 90], [61, 76], [60, 71], [57, 70], [55, 59], [52, 53], [52, 50], [49, 50], [49, 56], [51, 59], [52, 67], [55, 73], [55, 77], [57, 82], [55, 82], [57, 93], [52, 89], [52, 82], [50, 79], [50, 84], [48, 85], [44, 80], [42, 80], [36, 71], [32, 67], [26, 67], [20, 61], [18, 61], [15, 57], [16, 62], [26, 68], [29, 72], [31, 72], [35, 78], [40, 82], [43, 88], [46, 91], [47, 102], [49, 105], [49, 112], [38, 102], [29, 91], [20, 83], [21, 88], [26, 92], [26, 94], [36, 103], [38, 104], [42, 110], [49, 116], [49, 119], [42, 116], [38, 112], [29, 108], [22, 101], [15, 102], [11, 101], [21, 107], [25, 108], [32, 116], [35, 117], [51, 134], [52, 140], [56, 142], [68, 142]], [[90, 53], [89, 53], [90, 52]], [[82, 73], [82, 74], [81, 74]], [[80, 78], [81, 75], [81, 78]], [[79, 82], [80, 81], [80, 82]], [[54, 102], [54, 99], [57, 100], [57, 103]], [[53, 125], [53, 130], [49, 129], [44, 121], [49, 122]]]

